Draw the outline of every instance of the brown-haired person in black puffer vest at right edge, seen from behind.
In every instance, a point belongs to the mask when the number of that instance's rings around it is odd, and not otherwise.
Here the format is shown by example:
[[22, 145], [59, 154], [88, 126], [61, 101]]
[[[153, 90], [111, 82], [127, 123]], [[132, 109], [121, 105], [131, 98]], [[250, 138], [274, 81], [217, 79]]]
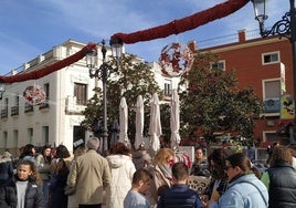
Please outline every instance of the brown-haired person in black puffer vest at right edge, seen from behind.
[[269, 207], [296, 207], [296, 171], [292, 167], [290, 150], [274, 147], [269, 165], [262, 176], [268, 189]]

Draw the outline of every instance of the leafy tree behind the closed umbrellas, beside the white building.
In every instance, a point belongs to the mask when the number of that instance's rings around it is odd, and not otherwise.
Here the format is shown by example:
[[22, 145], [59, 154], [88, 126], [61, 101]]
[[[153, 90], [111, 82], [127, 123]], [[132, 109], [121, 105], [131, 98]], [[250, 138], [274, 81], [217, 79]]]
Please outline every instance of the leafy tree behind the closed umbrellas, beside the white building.
[[[110, 62], [110, 64], [115, 65], [115, 62]], [[149, 126], [151, 94], [157, 92], [159, 97], [162, 97], [151, 67], [141, 60], [137, 60], [135, 55], [123, 54], [119, 70], [112, 73], [112, 77], [108, 79], [106, 84], [108, 124], [119, 119], [120, 98], [125, 96], [128, 105], [128, 138], [134, 144], [137, 96], [141, 95], [145, 103], [144, 134], [147, 134]], [[97, 122], [103, 117], [102, 92], [101, 89], [94, 89], [94, 91], [96, 93], [87, 102], [83, 112], [85, 119], [82, 122], [82, 126], [92, 129], [97, 128]]]

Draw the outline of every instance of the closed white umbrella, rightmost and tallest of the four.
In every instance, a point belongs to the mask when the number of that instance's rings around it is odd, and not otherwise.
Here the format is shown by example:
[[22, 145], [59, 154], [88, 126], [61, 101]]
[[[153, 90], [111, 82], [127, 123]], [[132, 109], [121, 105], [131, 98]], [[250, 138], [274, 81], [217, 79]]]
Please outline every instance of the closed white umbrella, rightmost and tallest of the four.
[[171, 94], [171, 104], [170, 104], [170, 129], [171, 129], [171, 148], [177, 148], [180, 144], [180, 108], [179, 108], [179, 95], [177, 90], [172, 91]]

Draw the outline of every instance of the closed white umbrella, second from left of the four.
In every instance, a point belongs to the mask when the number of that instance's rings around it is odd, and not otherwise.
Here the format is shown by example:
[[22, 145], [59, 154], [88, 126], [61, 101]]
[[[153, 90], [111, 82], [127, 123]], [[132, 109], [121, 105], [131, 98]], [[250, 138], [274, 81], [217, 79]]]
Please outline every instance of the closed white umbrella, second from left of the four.
[[135, 135], [136, 149], [139, 148], [139, 146], [144, 143], [142, 128], [144, 128], [144, 102], [141, 95], [139, 95], [136, 103], [136, 135]]

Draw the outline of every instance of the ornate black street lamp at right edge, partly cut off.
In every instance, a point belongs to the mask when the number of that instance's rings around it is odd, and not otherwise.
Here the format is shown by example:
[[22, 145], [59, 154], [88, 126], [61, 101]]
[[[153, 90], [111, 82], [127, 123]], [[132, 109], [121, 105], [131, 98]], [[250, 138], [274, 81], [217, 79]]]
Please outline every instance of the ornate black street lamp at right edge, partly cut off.
[[293, 125], [293, 137], [290, 137], [290, 143], [295, 143], [296, 138], [296, 11], [295, 11], [295, 0], [289, 0], [289, 12], [286, 12], [282, 20], [275, 22], [275, 24], [269, 29], [264, 28], [264, 21], [268, 18], [265, 13], [266, 3], [268, 0], [252, 0], [255, 11], [255, 19], [260, 23], [260, 34], [263, 38], [268, 35], [278, 34], [279, 37], [286, 37], [289, 39], [292, 44], [292, 59], [293, 59], [293, 86], [294, 86], [294, 125]]

